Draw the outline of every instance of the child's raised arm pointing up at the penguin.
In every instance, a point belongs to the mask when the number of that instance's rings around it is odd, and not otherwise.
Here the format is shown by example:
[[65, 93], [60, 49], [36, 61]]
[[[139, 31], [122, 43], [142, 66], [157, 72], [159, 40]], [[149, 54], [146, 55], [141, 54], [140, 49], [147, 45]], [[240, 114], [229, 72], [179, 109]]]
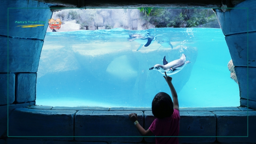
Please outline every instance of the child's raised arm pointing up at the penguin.
[[172, 85], [172, 77], [167, 76], [167, 75], [166, 75], [166, 72], [164, 72], [164, 73], [165, 73], [164, 79], [165, 79], [165, 81], [167, 82], [167, 84], [169, 85], [170, 90], [171, 90], [171, 92], [172, 92], [173, 108], [175, 108], [175, 109], [177, 109], [177, 110], [180, 111], [180, 109], [179, 109], [178, 95], [177, 95], [177, 92], [176, 92], [174, 86]]

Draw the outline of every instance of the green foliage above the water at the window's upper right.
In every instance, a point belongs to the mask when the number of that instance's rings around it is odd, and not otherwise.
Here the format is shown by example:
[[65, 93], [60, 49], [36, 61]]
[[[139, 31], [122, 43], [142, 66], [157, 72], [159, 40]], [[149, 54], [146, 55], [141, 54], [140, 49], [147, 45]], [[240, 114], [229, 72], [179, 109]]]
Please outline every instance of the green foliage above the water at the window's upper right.
[[196, 27], [214, 20], [216, 15], [211, 9], [161, 9], [151, 8], [147, 15], [144, 8], [140, 8], [140, 18], [156, 26], [156, 28], [173, 27], [180, 25]]

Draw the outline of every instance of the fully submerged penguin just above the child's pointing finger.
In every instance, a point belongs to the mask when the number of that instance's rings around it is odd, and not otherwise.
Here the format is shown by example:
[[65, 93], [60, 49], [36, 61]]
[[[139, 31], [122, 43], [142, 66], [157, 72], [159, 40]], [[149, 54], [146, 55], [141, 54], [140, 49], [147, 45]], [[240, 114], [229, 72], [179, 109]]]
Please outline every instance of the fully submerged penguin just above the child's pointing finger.
[[190, 61], [186, 61], [186, 55], [182, 54], [180, 59], [173, 60], [172, 62], [169, 62], [169, 63], [168, 61], [166, 61], [164, 56], [163, 63], [164, 65], [156, 64], [154, 67], [149, 68], [149, 70], [154, 69], [154, 70], [158, 70], [162, 74], [166, 72], [167, 75], [173, 75], [179, 72], [182, 68], [184, 68], [186, 64], [190, 63]]

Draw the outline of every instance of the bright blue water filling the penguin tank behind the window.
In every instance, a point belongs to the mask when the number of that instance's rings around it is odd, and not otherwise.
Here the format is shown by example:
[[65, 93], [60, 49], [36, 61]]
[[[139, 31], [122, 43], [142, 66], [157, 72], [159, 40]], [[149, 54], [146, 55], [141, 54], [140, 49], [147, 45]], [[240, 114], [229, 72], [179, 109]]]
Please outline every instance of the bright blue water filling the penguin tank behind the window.
[[[156, 36], [156, 41], [136, 51], [140, 44], [128, 41], [130, 34]], [[171, 42], [173, 49], [160, 41]], [[164, 56], [171, 62], [182, 53], [191, 63], [170, 75], [180, 107], [240, 105], [239, 87], [227, 66], [228, 46], [217, 28], [47, 32], [36, 105], [151, 107], [156, 93], [171, 92], [164, 75], [149, 68], [162, 64]]]

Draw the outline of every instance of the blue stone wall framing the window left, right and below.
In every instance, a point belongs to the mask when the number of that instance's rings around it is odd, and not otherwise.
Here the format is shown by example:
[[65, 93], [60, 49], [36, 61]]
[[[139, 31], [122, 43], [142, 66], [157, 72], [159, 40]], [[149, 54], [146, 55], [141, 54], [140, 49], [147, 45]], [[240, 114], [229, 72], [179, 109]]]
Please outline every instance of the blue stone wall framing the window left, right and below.
[[[80, 3], [81, 1], [78, 2]], [[256, 25], [254, 24], [256, 22], [256, 18], [254, 16], [256, 11], [255, 5], [256, 1], [246, 0], [240, 4], [235, 5], [235, 8], [241, 9], [231, 9], [226, 12], [222, 12], [219, 9], [215, 10], [218, 20], [220, 22], [220, 26], [223, 30], [224, 35], [226, 36], [228, 48], [235, 66], [237, 81], [240, 88], [241, 105], [247, 106], [248, 98], [248, 106], [249, 108], [253, 109], [256, 109], [256, 76], [254, 75], [256, 73], [256, 49], [254, 43], [256, 37]], [[82, 128], [82, 126], [84, 126], [84, 122], [76, 122], [76, 116], [77, 119], [80, 118], [84, 121], [88, 119], [88, 116], [90, 118], [93, 118], [95, 120], [94, 126], [99, 129], [101, 128], [100, 130], [104, 130], [104, 127], [112, 128], [109, 126], [109, 124], [112, 124], [113, 120], [118, 120], [114, 121], [114, 124], [116, 127], [122, 126], [122, 128], [113, 134], [125, 135], [126, 133], [124, 133], [124, 129], [127, 128], [125, 127], [125, 125], [127, 124], [129, 125], [129, 133], [127, 134], [133, 136], [134, 134], [136, 134], [137, 130], [134, 128], [134, 125], [131, 124], [127, 115], [128, 113], [131, 113], [131, 111], [111, 112], [111, 110], [95, 110], [96, 115], [89, 115], [89, 113], [94, 112], [94, 109], [87, 109], [91, 111], [85, 111], [85, 109], [82, 109], [80, 111], [81, 114], [78, 115], [79, 112], [77, 111], [80, 109], [50, 110], [48, 108], [49, 110], [45, 110], [39, 108], [39, 110], [31, 110], [28, 108], [22, 108], [35, 105], [36, 72], [38, 68], [42, 45], [44, 42], [44, 35], [48, 24], [44, 26], [38, 26], [33, 29], [22, 29], [21, 27], [16, 27], [17, 25], [15, 24], [15, 21], [47, 22], [47, 20], [50, 19], [52, 16], [52, 11], [48, 9], [50, 6], [52, 5], [37, 1], [0, 1], [0, 143], [84, 143], [84, 140], [86, 139], [82, 137], [74, 138], [74, 136], [76, 136], [79, 132], [84, 132], [84, 134], [88, 135], [91, 134], [91, 131], [95, 132], [97, 129], [92, 129], [92, 127], [87, 127], [88, 129]], [[248, 8], [248, 10], [246, 8]], [[21, 23], [21, 25], [25, 24]], [[9, 90], [9, 93], [7, 93], [7, 90]], [[213, 137], [199, 137], [193, 139], [180, 138], [180, 142], [197, 143], [199, 141], [203, 141], [205, 143], [211, 143], [215, 141], [217, 143], [256, 143], [255, 137], [253, 137], [253, 135], [256, 135], [256, 127], [254, 124], [256, 120], [255, 111], [249, 111], [249, 116], [247, 117], [247, 112], [243, 111], [244, 108], [235, 109], [236, 110], [226, 112], [220, 110], [210, 110], [211, 112], [209, 112], [209, 110], [206, 110], [206, 112], [202, 112], [202, 109], [200, 109], [198, 112], [190, 112], [193, 111], [191, 109], [189, 111], [181, 111], [181, 135], [186, 136], [187, 134], [195, 134], [195, 136], [197, 136], [196, 134], [202, 134], [210, 136], [210, 134], [212, 134], [210, 131], [212, 130], [214, 132], [216, 131], [216, 135], [213, 135]], [[134, 109], [130, 110], [134, 112]], [[136, 110], [138, 110], [138, 113], [140, 113], [140, 123], [143, 124], [142, 121], [145, 121], [145, 126], [149, 125], [153, 119], [150, 111], [147, 112], [146, 110], [143, 111], [138, 108]], [[9, 116], [10, 113], [12, 114]], [[26, 136], [39, 134], [42, 136], [70, 135], [70, 137], [57, 137], [57, 139], [56, 137], [53, 137], [52, 140], [48, 138], [47, 140], [43, 140], [43, 138], [7, 138], [7, 116], [9, 116], [10, 118], [9, 126], [11, 127], [9, 129], [10, 133], [8, 133], [9, 136], [11, 136], [10, 134], [17, 136], [21, 136], [22, 134], [26, 134]], [[112, 119], [111, 122], [100, 121], [101, 117], [108, 116]], [[244, 134], [247, 133], [247, 118], [249, 120], [249, 137], [246, 137], [247, 135]], [[106, 120], [108, 120], [108, 118], [106, 118]], [[93, 121], [91, 120], [91, 122]], [[33, 125], [33, 127], [30, 127], [31, 124]], [[44, 126], [51, 126], [49, 127], [51, 129], [40, 126], [42, 124]], [[215, 126], [216, 129], [214, 129]], [[58, 131], [58, 129], [61, 131]], [[199, 133], [193, 133], [193, 131]], [[111, 132], [115, 131], [112, 130]], [[215, 136], [244, 137], [216, 138]], [[217, 141], [214, 140], [214, 138], [216, 138]], [[87, 141], [86, 143], [109, 143], [104, 141], [104, 138], [91, 138], [91, 140], [94, 142]], [[109, 141], [116, 141], [110, 142], [112, 144], [122, 143], [123, 141], [143, 143], [153, 142], [152, 139], [141, 140], [140, 137], [136, 137], [135, 139], [132, 138], [132, 140], [130, 138], [126, 138], [124, 140], [120, 140], [118, 138], [109, 139]]]

